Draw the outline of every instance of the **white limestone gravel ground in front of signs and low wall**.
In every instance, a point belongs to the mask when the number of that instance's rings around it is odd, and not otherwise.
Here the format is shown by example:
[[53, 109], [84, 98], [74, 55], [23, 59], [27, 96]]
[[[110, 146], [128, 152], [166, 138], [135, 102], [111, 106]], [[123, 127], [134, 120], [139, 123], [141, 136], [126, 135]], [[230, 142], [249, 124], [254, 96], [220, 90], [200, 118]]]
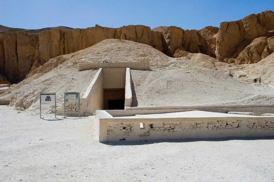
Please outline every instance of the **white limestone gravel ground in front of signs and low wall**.
[[95, 117], [47, 121], [0, 106], [0, 121], [0, 181], [274, 180], [273, 137], [102, 144]]

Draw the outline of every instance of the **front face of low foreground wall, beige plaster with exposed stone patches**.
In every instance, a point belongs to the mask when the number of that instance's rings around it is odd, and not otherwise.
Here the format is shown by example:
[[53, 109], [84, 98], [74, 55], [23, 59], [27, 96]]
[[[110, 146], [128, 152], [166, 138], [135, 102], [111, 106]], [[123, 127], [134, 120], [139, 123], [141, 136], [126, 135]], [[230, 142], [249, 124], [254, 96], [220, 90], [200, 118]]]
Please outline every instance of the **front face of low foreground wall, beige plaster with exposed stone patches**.
[[[274, 120], [216, 120], [107, 123], [107, 141], [180, 138], [222, 138], [246, 136], [274, 136]], [[102, 142], [102, 141], [101, 141]]]

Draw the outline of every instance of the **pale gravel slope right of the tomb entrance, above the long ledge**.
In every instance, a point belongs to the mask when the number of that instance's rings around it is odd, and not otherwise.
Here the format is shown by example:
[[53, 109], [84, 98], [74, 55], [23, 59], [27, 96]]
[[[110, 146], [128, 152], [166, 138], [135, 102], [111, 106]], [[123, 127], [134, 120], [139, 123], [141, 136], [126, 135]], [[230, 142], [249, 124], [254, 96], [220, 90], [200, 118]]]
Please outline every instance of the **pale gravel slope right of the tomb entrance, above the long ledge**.
[[270, 104], [274, 88], [239, 82], [218, 71], [195, 66], [182, 70], [131, 70], [134, 106]]

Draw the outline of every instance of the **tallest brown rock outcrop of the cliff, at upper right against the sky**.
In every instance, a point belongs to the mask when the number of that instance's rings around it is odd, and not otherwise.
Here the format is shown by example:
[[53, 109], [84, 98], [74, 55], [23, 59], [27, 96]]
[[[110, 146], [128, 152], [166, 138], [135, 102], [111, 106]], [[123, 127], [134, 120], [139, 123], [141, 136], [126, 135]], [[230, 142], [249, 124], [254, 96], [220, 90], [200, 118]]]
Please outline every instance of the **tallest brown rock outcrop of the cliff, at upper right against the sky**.
[[[274, 13], [263, 11], [250, 14], [238, 21], [222, 22], [216, 35], [215, 55], [218, 59], [231, 58], [245, 48], [245, 41], [274, 35]], [[247, 60], [249, 61], [249, 60]]]

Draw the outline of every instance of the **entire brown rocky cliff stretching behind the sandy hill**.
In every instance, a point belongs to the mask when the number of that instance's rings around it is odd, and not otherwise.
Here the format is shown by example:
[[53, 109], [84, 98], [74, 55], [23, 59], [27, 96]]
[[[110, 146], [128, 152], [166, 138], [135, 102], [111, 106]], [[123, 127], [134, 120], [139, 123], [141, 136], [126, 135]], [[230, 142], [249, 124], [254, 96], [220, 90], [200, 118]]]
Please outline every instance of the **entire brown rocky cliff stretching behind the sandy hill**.
[[251, 14], [238, 21], [222, 22], [220, 28], [207, 26], [201, 30], [184, 30], [175, 26], [161, 26], [151, 30], [143, 25], [40, 30], [0, 26], [0, 74], [12, 82], [18, 82], [30, 70], [51, 58], [111, 38], [147, 44], [174, 57], [202, 53], [218, 61], [249, 64], [273, 53], [273, 36], [273, 11]]

